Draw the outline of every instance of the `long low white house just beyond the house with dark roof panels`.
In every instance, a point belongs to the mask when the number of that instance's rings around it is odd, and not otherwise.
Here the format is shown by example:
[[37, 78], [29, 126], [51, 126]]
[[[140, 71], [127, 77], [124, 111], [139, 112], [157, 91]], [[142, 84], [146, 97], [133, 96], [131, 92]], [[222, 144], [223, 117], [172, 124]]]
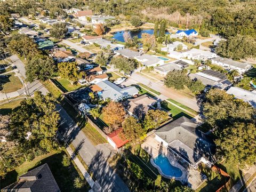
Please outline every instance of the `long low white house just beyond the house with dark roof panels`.
[[239, 74], [243, 74], [247, 70], [252, 69], [252, 66], [247, 62], [244, 63], [222, 57], [213, 58], [212, 63], [228, 70], [237, 70]]

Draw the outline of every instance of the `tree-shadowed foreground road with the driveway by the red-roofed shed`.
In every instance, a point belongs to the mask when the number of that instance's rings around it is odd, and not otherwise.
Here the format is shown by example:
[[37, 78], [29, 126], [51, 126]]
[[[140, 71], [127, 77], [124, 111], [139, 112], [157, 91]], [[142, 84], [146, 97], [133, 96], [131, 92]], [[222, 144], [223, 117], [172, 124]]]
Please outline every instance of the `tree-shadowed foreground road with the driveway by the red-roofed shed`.
[[111, 169], [107, 159], [115, 154], [114, 149], [109, 144], [92, 145], [91, 141], [86, 137], [83, 131], [79, 131], [79, 127], [73, 119], [60, 106], [57, 110], [61, 116], [61, 134], [68, 138], [79, 151], [79, 155], [93, 172], [94, 178], [98, 180], [105, 191], [129, 191], [121, 178]]

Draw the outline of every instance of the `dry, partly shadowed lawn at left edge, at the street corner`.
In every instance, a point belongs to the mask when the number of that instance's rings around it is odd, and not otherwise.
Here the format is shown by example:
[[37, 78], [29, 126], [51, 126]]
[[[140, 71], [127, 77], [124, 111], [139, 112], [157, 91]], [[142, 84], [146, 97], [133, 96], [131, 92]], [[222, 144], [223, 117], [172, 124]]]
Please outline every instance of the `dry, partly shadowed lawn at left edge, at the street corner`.
[[14, 76], [15, 73], [9, 73], [6, 75], [8, 75], [7, 78], [3, 78], [0, 80], [0, 82], [3, 83], [3, 88], [6, 93], [17, 91], [23, 87], [22, 83], [20, 82], [20, 79]]

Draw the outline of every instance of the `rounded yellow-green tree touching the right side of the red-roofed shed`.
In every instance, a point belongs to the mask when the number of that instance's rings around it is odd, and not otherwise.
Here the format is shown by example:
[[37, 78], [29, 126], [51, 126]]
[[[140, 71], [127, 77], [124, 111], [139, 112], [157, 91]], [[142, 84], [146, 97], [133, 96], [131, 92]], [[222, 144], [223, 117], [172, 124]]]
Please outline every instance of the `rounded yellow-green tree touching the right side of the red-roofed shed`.
[[145, 130], [143, 130], [141, 124], [138, 123], [138, 120], [134, 117], [127, 117], [124, 120], [122, 127], [124, 138], [131, 141], [139, 139], [145, 133]]

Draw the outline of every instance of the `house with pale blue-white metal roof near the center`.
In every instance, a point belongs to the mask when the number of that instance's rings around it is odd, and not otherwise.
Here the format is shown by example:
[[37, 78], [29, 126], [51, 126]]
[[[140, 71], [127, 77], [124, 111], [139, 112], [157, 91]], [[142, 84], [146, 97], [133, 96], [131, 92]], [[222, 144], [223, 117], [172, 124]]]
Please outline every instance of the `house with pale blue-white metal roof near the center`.
[[92, 85], [91, 89], [98, 92], [99, 97], [103, 100], [109, 98], [113, 101], [130, 98], [139, 93], [139, 90], [134, 86], [121, 88], [110, 81], [100, 81], [99, 83]]

